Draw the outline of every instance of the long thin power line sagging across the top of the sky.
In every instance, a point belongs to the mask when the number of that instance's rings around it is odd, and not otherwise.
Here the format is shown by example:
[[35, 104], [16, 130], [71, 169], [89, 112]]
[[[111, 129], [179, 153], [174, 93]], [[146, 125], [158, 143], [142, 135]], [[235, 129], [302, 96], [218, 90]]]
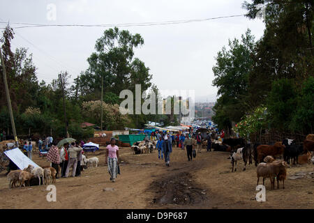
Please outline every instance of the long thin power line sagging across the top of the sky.
[[[57, 27], [64, 27], [64, 26], [81, 26], [81, 27], [129, 27], [129, 26], [157, 26], [157, 25], [170, 25], [170, 24], [184, 24], [190, 22], [204, 22], [209, 20], [219, 20], [224, 18], [230, 17], [242, 17], [245, 14], [241, 15], [228, 15], [228, 16], [220, 16], [220, 17], [210, 17], [206, 19], [195, 19], [195, 20], [172, 20], [172, 21], [165, 21], [165, 22], [140, 22], [140, 23], [117, 23], [117, 24], [31, 24], [31, 23], [24, 23], [24, 22], [10, 22], [10, 24], [20, 24], [26, 26], [15, 26], [12, 27], [13, 29], [22, 29], [22, 28], [31, 28], [31, 27], [47, 27], [47, 26], [57, 26]], [[7, 23], [7, 22], [0, 22], [0, 23]], [[0, 28], [4, 29], [4, 28]]]

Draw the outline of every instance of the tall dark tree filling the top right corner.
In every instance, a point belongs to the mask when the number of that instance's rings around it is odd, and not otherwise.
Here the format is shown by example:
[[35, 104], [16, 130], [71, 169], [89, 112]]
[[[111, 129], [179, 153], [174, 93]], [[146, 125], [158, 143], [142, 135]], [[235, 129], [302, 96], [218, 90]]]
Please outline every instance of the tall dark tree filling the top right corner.
[[245, 1], [247, 17], [255, 19], [261, 4], [266, 29], [253, 54], [248, 89], [254, 107], [267, 100], [274, 80], [294, 79], [301, 89], [304, 79], [314, 73], [313, 1]]

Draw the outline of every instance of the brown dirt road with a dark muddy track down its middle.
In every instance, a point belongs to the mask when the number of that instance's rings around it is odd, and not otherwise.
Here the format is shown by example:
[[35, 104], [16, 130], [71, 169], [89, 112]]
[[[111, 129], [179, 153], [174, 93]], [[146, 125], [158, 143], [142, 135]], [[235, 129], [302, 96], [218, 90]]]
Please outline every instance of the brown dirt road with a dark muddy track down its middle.
[[[231, 172], [228, 153], [197, 153], [192, 162], [186, 151], [174, 148], [170, 167], [158, 154], [133, 155], [130, 148], [120, 148], [121, 176], [110, 182], [105, 166], [105, 151], [95, 155], [100, 167], [89, 168], [82, 176], [59, 178], [57, 201], [48, 202], [44, 185], [8, 189], [4, 171], [0, 174], [0, 208], [314, 208], [314, 178], [310, 174], [296, 180], [287, 179], [285, 189], [270, 190], [266, 180], [266, 202], [255, 201], [256, 167]], [[40, 166], [45, 158], [33, 154]], [[309, 173], [313, 165], [287, 169], [288, 176]], [[312, 175], [313, 176], [313, 175]]]

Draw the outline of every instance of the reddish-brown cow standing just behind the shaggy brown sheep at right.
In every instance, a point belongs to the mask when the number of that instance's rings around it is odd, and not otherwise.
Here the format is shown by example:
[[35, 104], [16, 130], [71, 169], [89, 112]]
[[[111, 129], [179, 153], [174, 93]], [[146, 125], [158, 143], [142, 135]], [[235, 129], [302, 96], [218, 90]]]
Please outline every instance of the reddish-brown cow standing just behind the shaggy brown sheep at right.
[[257, 146], [257, 162], [260, 163], [267, 155], [276, 157], [278, 155], [283, 155], [285, 151], [285, 145], [281, 141], [276, 141], [274, 145], [260, 145]]

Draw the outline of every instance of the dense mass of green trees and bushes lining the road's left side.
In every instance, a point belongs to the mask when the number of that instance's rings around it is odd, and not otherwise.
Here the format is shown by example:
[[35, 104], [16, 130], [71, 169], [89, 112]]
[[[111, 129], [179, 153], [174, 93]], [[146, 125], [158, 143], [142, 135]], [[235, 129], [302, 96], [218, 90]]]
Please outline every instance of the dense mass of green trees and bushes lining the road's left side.
[[[96, 52], [87, 59], [89, 68], [81, 72], [70, 86], [70, 74], [61, 71], [64, 86], [66, 120], [63, 111], [63, 92], [60, 79], [51, 83], [38, 82], [36, 66], [27, 49], [11, 51], [10, 42], [14, 31], [7, 26], [0, 39], [1, 51], [6, 64], [10, 99], [15, 117], [15, 127], [20, 137], [65, 137], [68, 133], [77, 139], [87, 139], [94, 134], [93, 128], [82, 129], [81, 123], [100, 126], [100, 94], [103, 77], [103, 126], [104, 130], [123, 130], [124, 127], [142, 128], [154, 121], [152, 116], [121, 115], [119, 93], [129, 89], [135, 93], [135, 84], [142, 91], [151, 87], [151, 74], [144, 62], [134, 57], [134, 49], [144, 44], [140, 34], [131, 34], [118, 28], [105, 30], [95, 45]], [[2, 67], [0, 66], [2, 75]], [[57, 76], [57, 75], [56, 75]], [[154, 86], [154, 90], [158, 91]], [[12, 134], [3, 78], [0, 79], [0, 129]], [[142, 99], [144, 100], [144, 99]], [[158, 117], [160, 121], [161, 117]]]

